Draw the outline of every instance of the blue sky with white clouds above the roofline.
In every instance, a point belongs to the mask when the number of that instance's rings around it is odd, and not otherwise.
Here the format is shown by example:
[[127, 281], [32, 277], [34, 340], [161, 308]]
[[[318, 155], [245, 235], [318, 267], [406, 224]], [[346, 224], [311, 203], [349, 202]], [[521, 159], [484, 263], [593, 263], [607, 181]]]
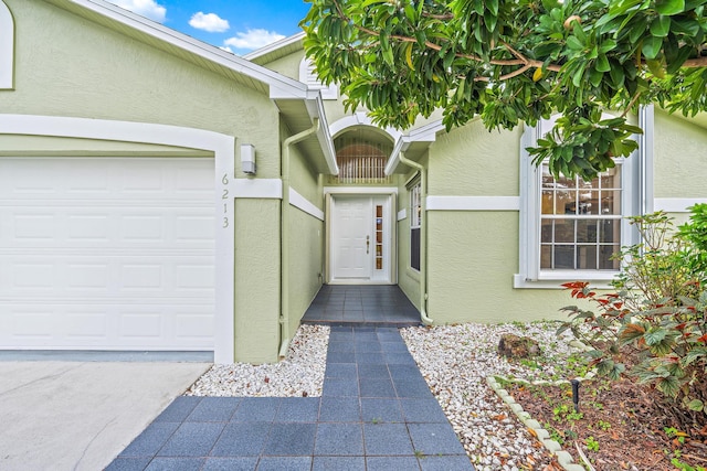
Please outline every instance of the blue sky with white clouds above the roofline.
[[107, 0], [235, 54], [247, 54], [300, 30], [304, 0]]

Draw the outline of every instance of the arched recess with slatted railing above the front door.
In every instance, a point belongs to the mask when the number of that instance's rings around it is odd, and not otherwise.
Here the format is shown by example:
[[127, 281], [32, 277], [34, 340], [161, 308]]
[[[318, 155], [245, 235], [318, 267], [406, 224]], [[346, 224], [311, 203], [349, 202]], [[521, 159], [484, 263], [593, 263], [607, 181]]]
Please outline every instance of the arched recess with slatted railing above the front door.
[[392, 143], [377, 142], [344, 135], [335, 139], [338, 176], [331, 183], [339, 184], [390, 184], [386, 175], [386, 162], [393, 150]]

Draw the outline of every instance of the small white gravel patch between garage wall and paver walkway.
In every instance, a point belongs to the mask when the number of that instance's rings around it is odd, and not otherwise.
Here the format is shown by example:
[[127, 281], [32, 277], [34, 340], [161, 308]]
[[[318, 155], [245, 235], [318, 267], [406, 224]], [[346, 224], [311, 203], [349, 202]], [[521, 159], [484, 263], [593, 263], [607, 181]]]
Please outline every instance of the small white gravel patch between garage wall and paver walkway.
[[321, 396], [329, 328], [300, 325], [285, 360], [263, 365], [214, 365], [184, 393], [187, 396]]

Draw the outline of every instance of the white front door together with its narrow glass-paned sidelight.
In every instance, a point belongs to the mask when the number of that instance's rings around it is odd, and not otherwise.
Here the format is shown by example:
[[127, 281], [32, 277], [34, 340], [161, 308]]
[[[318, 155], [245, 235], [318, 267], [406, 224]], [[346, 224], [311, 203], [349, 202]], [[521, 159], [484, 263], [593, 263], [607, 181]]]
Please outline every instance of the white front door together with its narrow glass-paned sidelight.
[[333, 195], [330, 282], [392, 282], [390, 208], [389, 195]]

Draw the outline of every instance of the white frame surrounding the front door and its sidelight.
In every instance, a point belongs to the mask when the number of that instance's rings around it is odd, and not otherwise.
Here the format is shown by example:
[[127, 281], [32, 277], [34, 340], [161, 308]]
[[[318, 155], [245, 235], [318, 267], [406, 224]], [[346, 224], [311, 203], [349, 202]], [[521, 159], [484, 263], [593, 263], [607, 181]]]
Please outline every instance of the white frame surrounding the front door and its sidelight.
[[[397, 285], [398, 283], [398, 237], [397, 227], [397, 196], [398, 189], [394, 186], [325, 186], [324, 189], [325, 202], [326, 202], [326, 237], [325, 237], [325, 280], [327, 283], [335, 285]], [[360, 280], [360, 279], [334, 279], [331, 272], [331, 236], [333, 236], [333, 201], [335, 195], [350, 195], [350, 196], [382, 196], [390, 199], [389, 211], [389, 227], [390, 227], [390, 267], [389, 279], [387, 280]]]

